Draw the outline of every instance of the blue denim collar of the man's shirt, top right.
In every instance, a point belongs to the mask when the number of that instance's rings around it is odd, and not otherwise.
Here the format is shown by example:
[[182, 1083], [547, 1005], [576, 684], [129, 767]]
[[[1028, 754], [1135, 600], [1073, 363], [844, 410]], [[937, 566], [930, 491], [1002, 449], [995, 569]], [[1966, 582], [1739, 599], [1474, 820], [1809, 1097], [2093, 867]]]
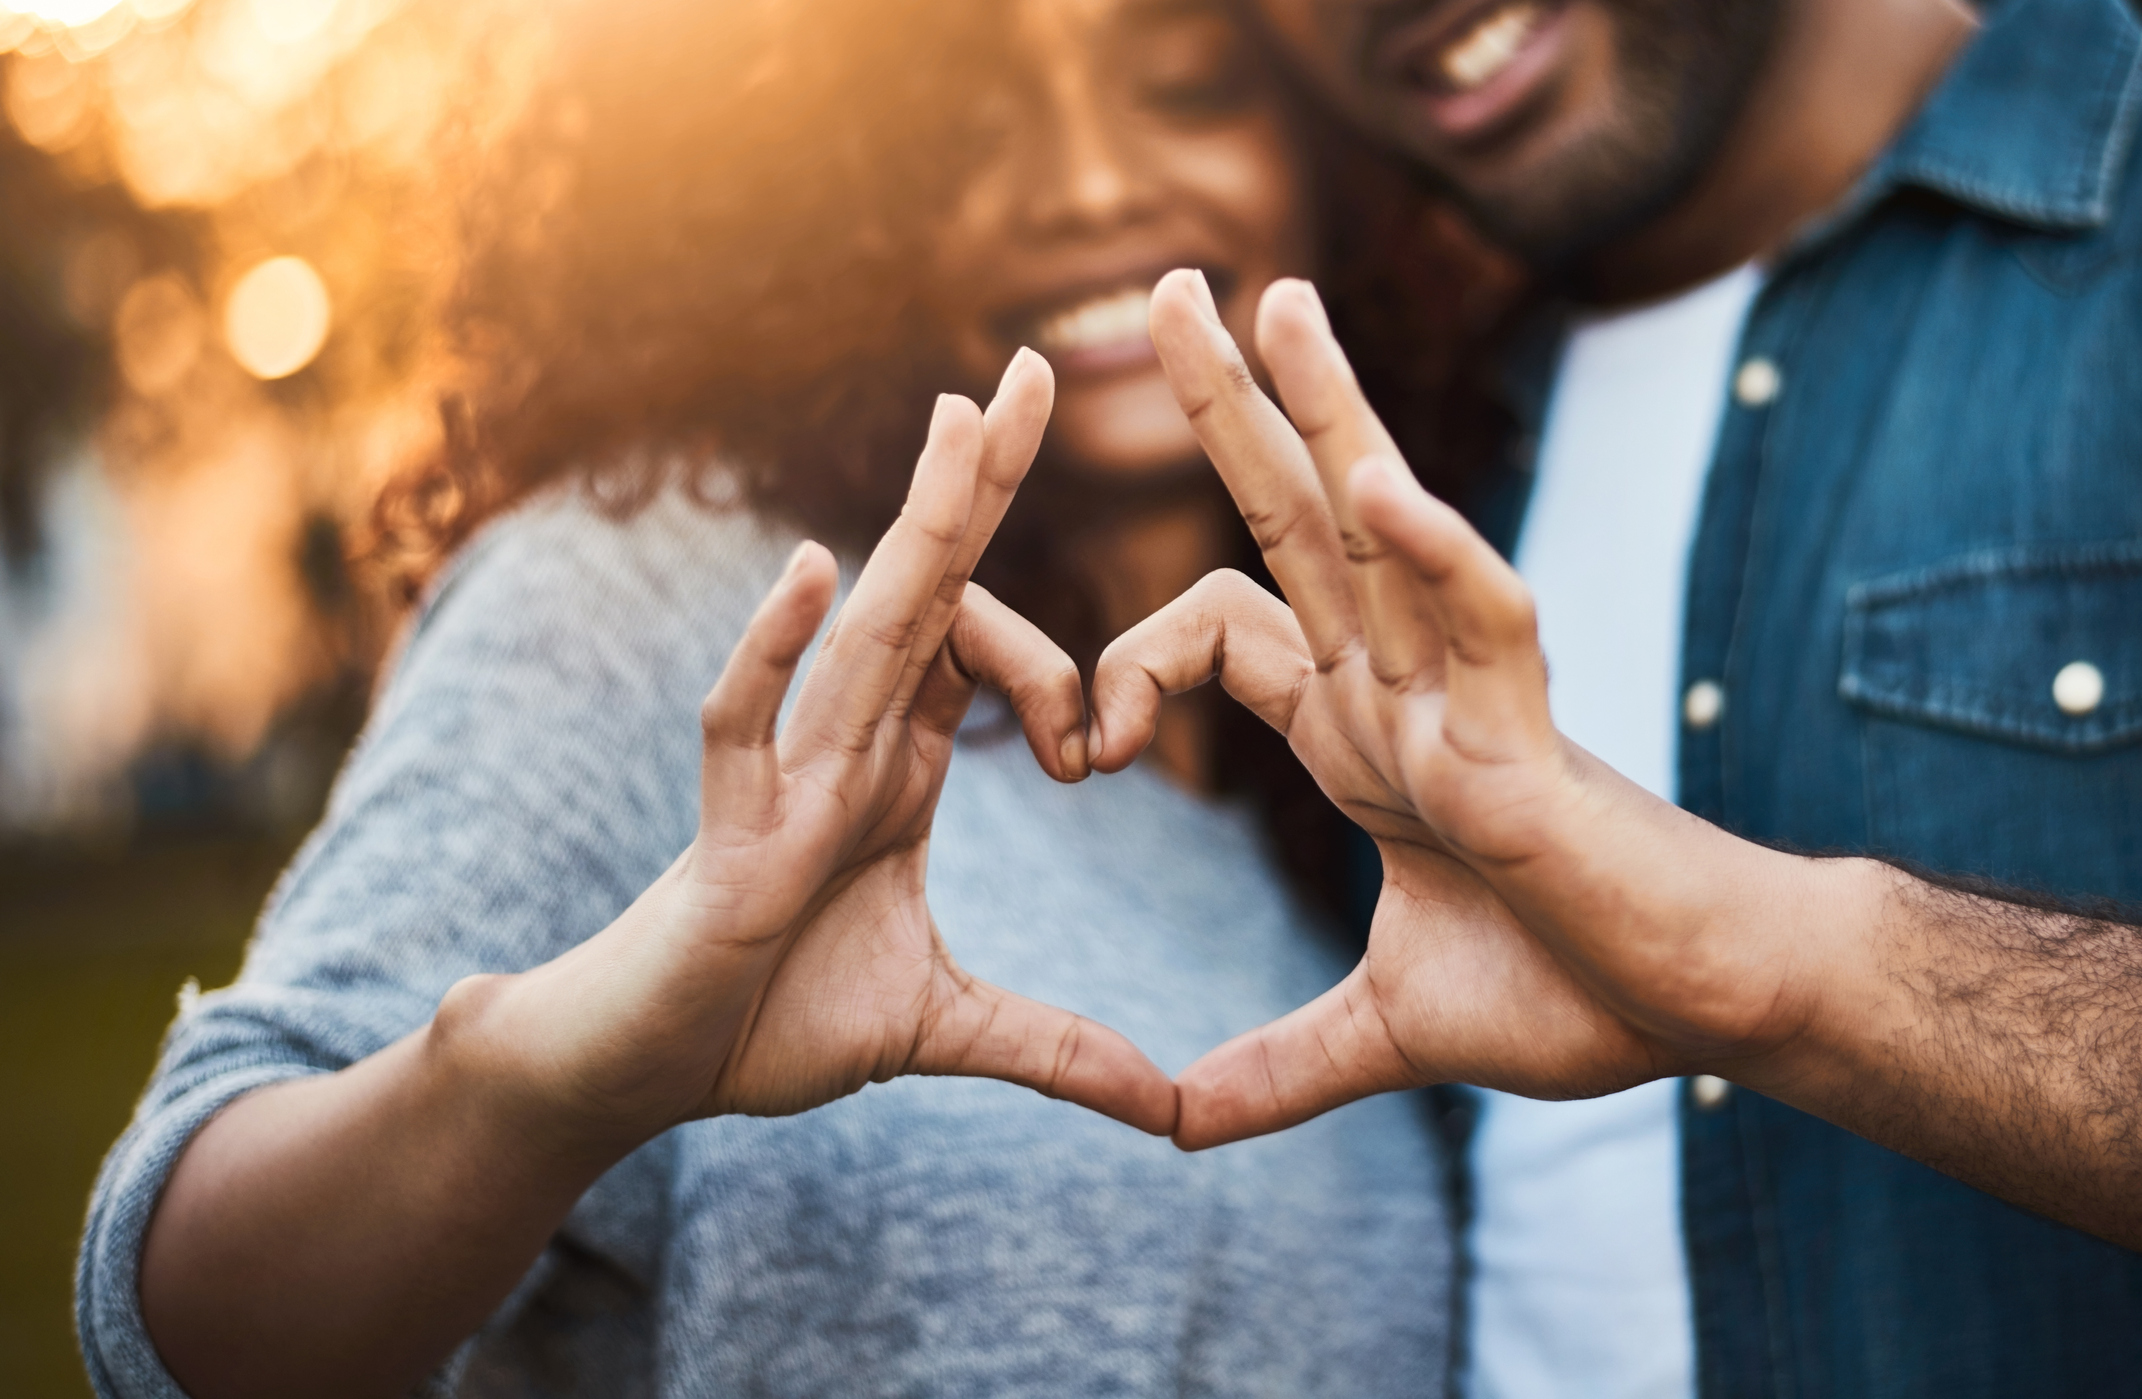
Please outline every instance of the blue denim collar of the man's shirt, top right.
[[2026, 227], [2101, 227], [2138, 116], [2127, 0], [2001, 0], [1851, 204], [1917, 186]]

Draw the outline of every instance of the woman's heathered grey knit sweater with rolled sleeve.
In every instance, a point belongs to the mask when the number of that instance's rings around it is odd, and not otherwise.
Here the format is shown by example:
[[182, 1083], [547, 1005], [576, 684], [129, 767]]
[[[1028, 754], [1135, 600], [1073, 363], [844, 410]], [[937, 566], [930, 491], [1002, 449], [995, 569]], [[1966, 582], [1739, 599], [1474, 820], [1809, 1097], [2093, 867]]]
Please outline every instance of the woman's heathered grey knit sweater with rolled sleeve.
[[[105, 1161], [77, 1279], [99, 1393], [180, 1393], [137, 1270], [212, 1112], [373, 1054], [463, 975], [557, 956], [692, 838], [696, 707], [790, 542], [675, 493], [623, 523], [561, 493], [465, 553], [244, 975], [182, 1009]], [[981, 709], [930, 857], [970, 971], [1120, 1028], [1167, 1071], [1343, 975], [1251, 812], [1144, 769], [1060, 788]], [[1005, 1084], [897, 1080], [655, 1140], [431, 1388], [1433, 1395], [1450, 1270], [1414, 1097], [1187, 1157]]]

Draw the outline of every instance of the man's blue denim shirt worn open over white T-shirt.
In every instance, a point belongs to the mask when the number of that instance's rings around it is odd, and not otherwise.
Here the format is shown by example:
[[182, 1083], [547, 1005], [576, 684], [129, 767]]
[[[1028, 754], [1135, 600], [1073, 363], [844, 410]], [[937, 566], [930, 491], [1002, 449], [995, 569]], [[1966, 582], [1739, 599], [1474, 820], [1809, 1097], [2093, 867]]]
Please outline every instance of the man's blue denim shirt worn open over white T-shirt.
[[[2138, 60], [2123, 0], [2005, 0], [1771, 268], [1690, 555], [1688, 810], [2142, 902]], [[1476, 501], [1504, 546], [1553, 349]], [[2142, 1393], [2142, 1255], [1739, 1088], [1684, 1090], [1681, 1144], [1705, 1399]]]

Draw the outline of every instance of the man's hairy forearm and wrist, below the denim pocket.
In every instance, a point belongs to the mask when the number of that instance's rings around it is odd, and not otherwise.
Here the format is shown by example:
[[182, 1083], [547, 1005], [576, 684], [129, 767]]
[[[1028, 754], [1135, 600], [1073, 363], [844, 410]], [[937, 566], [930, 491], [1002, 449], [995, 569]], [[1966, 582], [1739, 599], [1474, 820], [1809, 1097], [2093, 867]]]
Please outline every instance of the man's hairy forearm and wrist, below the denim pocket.
[[1532, 857], [1487, 872], [1654, 1065], [2142, 1247], [2142, 930], [1765, 848], [1574, 769]]

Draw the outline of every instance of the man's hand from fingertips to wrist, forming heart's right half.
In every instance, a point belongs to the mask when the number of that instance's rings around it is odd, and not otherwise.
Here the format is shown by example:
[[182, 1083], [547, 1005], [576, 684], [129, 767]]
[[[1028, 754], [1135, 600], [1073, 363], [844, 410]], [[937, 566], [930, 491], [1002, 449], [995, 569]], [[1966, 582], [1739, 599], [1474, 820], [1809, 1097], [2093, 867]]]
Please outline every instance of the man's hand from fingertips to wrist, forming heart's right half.
[[1431, 1082], [1598, 1095], [1780, 1035], [1791, 960], [1701, 934], [1724, 885], [1761, 898], [1786, 857], [1555, 731], [1529, 593], [1405, 471], [1315, 291], [1277, 283], [1257, 319], [1287, 416], [1197, 274], [1155, 289], [1152, 334], [1287, 602], [1215, 574], [1118, 638], [1095, 679], [1095, 767], [1135, 758], [1163, 692], [1217, 675], [1384, 855], [1360, 966], [1191, 1065], [1176, 1140]]

